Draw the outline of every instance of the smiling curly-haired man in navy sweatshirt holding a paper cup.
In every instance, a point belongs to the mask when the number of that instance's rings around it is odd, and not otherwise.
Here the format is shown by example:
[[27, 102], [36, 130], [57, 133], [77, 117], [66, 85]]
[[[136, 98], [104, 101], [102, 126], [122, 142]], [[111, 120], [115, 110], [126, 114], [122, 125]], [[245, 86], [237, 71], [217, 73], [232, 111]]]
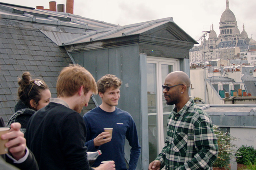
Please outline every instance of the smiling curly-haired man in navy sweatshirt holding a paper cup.
[[[87, 127], [86, 143], [88, 151], [100, 149], [102, 154], [93, 166], [99, 166], [101, 161], [115, 161], [116, 170], [127, 170], [124, 159], [125, 138], [131, 148], [129, 170], [135, 170], [140, 155], [140, 145], [135, 122], [132, 116], [116, 107], [120, 97], [122, 82], [114, 75], [107, 74], [97, 82], [98, 93], [102, 104], [83, 116]], [[103, 128], [113, 128], [112, 138]]]

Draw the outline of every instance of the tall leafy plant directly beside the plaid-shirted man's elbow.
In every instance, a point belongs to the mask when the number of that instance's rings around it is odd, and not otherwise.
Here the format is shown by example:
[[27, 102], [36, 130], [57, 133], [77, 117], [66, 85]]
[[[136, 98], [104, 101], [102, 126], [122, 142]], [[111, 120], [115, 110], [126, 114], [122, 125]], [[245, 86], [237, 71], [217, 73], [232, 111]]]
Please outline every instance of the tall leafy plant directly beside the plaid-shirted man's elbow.
[[223, 132], [218, 126], [213, 125], [214, 134], [217, 137], [218, 143], [218, 156], [215, 160], [213, 167], [230, 169], [230, 159], [234, 158], [236, 145], [231, 141], [236, 141], [237, 138], [230, 135], [228, 132]]

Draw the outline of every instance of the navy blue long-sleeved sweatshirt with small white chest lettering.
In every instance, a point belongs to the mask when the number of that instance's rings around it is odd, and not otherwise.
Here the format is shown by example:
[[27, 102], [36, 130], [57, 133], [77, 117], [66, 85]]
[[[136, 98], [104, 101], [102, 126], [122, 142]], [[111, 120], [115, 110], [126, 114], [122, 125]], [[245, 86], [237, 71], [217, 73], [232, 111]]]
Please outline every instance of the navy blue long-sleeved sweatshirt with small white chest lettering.
[[[102, 154], [96, 159], [94, 167], [101, 161], [115, 161], [116, 170], [126, 170], [124, 160], [125, 138], [131, 148], [129, 170], [135, 170], [140, 155], [140, 145], [135, 122], [132, 116], [119, 108], [114, 112], [105, 112], [99, 106], [85, 113], [83, 116], [87, 128], [86, 143], [88, 151], [101, 150]], [[93, 139], [104, 132], [103, 128], [113, 128], [112, 139], [99, 147], [95, 147]]]

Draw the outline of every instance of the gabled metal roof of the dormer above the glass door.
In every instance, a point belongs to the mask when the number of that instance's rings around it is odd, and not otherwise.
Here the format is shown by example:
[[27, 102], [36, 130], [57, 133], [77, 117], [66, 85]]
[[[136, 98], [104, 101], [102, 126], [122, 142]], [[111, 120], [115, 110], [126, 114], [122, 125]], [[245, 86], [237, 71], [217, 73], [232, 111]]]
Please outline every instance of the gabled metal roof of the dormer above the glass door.
[[[166, 24], [168, 24], [168, 26], [161, 27]], [[172, 17], [168, 17], [126, 26], [117, 26], [96, 31], [89, 31], [86, 32], [84, 36], [64, 42], [63, 45], [67, 46], [140, 34], [174, 39], [178, 41], [188, 41], [198, 44], [192, 37], [190, 37], [185, 31], [183, 31], [173, 22]]]

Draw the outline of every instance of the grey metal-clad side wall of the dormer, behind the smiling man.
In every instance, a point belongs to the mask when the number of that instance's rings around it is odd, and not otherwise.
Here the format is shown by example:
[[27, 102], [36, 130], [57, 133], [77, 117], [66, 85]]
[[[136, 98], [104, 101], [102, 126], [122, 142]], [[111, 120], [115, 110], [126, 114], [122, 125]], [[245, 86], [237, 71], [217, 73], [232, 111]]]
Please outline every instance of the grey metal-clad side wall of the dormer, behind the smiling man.
[[[80, 53], [73, 53], [72, 56], [77, 63], [83, 65], [93, 75], [95, 80], [99, 80], [105, 74], [113, 74], [122, 80], [120, 88], [120, 99], [118, 106], [120, 109], [129, 112], [136, 123], [139, 142], [142, 145], [142, 127], [141, 127], [141, 71], [146, 69], [140, 68], [140, 55], [138, 45], [127, 45], [103, 50], [94, 50]], [[78, 59], [80, 58], [80, 59]], [[145, 58], [144, 61], [146, 62]], [[144, 63], [144, 68], [146, 63]], [[146, 75], [146, 74], [145, 74]], [[146, 87], [146, 81], [145, 87]], [[101, 104], [99, 95], [94, 95], [98, 104]], [[146, 98], [144, 100], [147, 100]], [[144, 120], [145, 121], [145, 120]], [[147, 121], [147, 120], [146, 120]], [[147, 128], [146, 128], [147, 129]], [[147, 135], [147, 134], [146, 134]], [[148, 148], [147, 148], [148, 149]], [[130, 146], [126, 140], [125, 155], [130, 159]], [[141, 157], [138, 161], [137, 169], [142, 167]], [[147, 167], [144, 167], [147, 168]]]

